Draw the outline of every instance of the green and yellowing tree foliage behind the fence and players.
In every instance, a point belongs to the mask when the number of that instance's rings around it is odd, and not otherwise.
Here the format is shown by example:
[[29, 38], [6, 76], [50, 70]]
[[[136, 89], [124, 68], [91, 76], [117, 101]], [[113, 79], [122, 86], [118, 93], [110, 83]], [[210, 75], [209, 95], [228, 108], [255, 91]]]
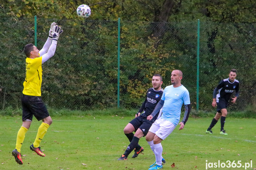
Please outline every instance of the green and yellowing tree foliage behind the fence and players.
[[[87, 4], [88, 19], [76, 8]], [[152, 75], [170, 85], [173, 69], [196, 106], [197, 20], [200, 19], [199, 109], [212, 110], [218, 82], [238, 70], [240, 97], [231, 108], [254, 111], [256, 2], [205, 0], [0, 0], [0, 108], [20, 108], [25, 77], [23, 47], [42, 48], [50, 24], [64, 33], [43, 64], [42, 98], [48, 106], [94, 109], [117, 106], [117, 20], [121, 20], [120, 106], [137, 108]]]

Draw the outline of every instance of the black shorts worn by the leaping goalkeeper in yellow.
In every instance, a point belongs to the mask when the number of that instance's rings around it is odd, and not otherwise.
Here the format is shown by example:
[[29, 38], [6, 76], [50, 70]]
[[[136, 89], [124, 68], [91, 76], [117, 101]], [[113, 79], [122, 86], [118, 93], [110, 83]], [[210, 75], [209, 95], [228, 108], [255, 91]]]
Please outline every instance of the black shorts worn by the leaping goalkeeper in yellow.
[[46, 106], [44, 105], [41, 97], [31, 96], [31, 95], [22, 95], [21, 97], [22, 104], [22, 121], [27, 119], [32, 121], [33, 115], [36, 119], [42, 120], [49, 115]]

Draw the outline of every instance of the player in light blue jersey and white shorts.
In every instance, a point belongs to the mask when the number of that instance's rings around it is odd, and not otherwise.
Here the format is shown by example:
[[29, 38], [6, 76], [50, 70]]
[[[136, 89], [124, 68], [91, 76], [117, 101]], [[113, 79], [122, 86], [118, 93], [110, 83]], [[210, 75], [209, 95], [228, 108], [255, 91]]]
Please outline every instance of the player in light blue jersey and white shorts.
[[[155, 162], [150, 165], [149, 170], [161, 169], [163, 167], [162, 140], [168, 137], [178, 124], [180, 125], [179, 130], [183, 129], [190, 114], [189, 92], [181, 84], [182, 76], [183, 73], [180, 70], [173, 70], [171, 72], [172, 85], [164, 89], [161, 100], [156, 105], [152, 114], [147, 117], [148, 120], [151, 120], [163, 107], [162, 116], [152, 124], [146, 136], [146, 140], [155, 154]], [[183, 103], [185, 105], [185, 114], [179, 123]]]

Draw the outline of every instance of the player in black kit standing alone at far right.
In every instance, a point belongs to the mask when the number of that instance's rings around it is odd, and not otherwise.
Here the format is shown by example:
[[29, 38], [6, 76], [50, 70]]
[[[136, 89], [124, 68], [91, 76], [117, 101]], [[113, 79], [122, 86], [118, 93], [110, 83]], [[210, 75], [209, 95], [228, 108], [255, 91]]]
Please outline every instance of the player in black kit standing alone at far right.
[[[212, 123], [206, 130], [206, 133], [212, 134], [212, 128], [220, 119], [220, 134], [228, 135], [224, 130], [225, 119], [228, 114], [227, 106], [231, 95], [234, 91], [235, 97], [231, 98], [231, 102], [235, 103], [239, 95], [239, 82], [236, 78], [236, 69], [231, 69], [229, 72], [229, 78], [220, 81], [219, 85], [213, 91], [212, 106], [217, 106], [217, 113], [212, 119]], [[219, 92], [219, 93], [218, 93]], [[218, 93], [218, 94], [217, 94]]]

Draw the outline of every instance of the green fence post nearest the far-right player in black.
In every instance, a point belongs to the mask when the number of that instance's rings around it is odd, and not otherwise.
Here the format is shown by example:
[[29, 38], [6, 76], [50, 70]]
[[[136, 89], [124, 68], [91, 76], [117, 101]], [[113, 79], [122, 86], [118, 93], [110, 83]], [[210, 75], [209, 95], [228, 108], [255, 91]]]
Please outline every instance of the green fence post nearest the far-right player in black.
[[199, 110], [199, 33], [200, 20], [197, 20], [197, 66], [196, 66], [196, 110]]

